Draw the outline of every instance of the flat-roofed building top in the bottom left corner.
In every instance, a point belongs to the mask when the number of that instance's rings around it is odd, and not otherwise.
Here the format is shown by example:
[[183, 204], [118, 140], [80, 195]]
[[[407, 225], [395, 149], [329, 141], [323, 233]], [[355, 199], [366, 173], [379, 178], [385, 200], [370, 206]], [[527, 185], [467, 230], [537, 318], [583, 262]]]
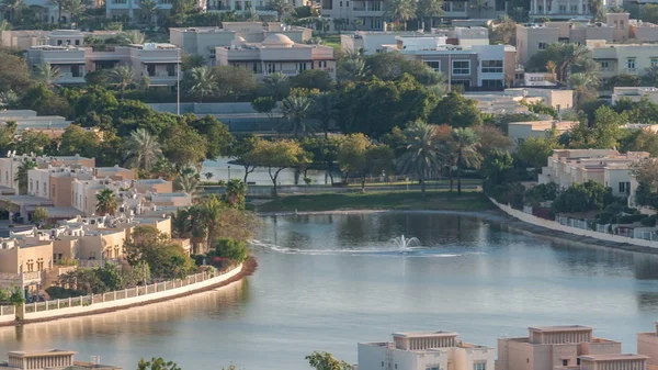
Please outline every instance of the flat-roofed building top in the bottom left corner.
[[8, 352], [9, 360], [0, 362], [0, 369], [4, 370], [121, 370], [122, 368], [111, 365], [95, 362], [76, 361], [78, 352], [61, 349], [11, 351]]

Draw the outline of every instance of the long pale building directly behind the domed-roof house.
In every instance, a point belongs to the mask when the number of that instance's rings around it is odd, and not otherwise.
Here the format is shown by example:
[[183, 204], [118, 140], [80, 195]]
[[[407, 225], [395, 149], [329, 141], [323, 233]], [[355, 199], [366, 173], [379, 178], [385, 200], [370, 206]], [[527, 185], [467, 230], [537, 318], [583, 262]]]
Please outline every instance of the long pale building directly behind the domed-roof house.
[[169, 42], [184, 54], [197, 54], [211, 64], [215, 64], [215, 48], [230, 46], [234, 41], [262, 43], [273, 33], [286, 35], [295, 43], [303, 44], [313, 37], [313, 30], [284, 25], [281, 22], [223, 22], [219, 27], [172, 27], [169, 29]]

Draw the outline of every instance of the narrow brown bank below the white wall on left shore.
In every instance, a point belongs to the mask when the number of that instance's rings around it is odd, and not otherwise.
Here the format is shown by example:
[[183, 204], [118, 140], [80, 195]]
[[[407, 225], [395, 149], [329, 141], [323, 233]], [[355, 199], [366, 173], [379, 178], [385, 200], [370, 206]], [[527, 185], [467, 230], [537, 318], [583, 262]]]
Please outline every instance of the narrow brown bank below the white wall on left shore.
[[146, 305], [155, 304], [155, 303], [162, 303], [162, 302], [167, 302], [167, 301], [171, 301], [171, 300], [175, 300], [175, 299], [180, 299], [180, 298], [184, 298], [184, 296], [189, 296], [189, 295], [194, 295], [194, 294], [203, 293], [203, 292], [206, 292], [206, 291], [215, 290], [217, 288], [229, 285], [229, 284], [231, 284], [234, 282], [241, 281], [242, 279], [245, 279], [245, 278], [253, 274], [253, 272], [256, 272], [257, 269], [258, 269], [258, 261], [256, 260], [256, 258], [253, 256], [251, 256], [251, 257], [249, 257], [242, 264], [242, 269], [238, 273], [236, 273], [231, 278], [229, 278], [227, 280], [223, 280], [223, 281], [220, 281], [220, 282], [218, 282], [216, 284], [212, 284], [212, 285], [207, 285], [207, 287], [202, 287], [202, 288], [189, 291], [189, 292], [184, 292], [184, 293], [180, 293], [180, 294], [175, 294], [175, 295], [171, 295], [171, 296], [167, 296], [167, 298], [155, 299], [155, 300], [151, 300], [151, 301], [133, 303], [133, 304], [127, 304], [127, 305], [122, 305], [122, 306], [118, 306], [118, 307], [99, 309], [99, 310], [94, 310], [94, 311], [90, 311], [90, 312], [81, 312], [81, 313], [75, 313], [75, 314], [68, 314], [68, 315], [60, 315], [60, 316], [54, 316], [54, 317], [33, 318], [33, 319], [24, 319], [24, 321], [16, 321], [16, 319], [14, 319], [14, 321], [11, 321], [11, 322], [0, 323], [0, 327], [22, 326], [22, 325], [27, 325], [27, 324], [38, 324], [38, 323], [57, 321], [57, 319], [60, 319], [60, 318], [93, 316], [93, 315], [98, 315], [98, 314], [105, 314], [105, 313], [111, 313], [111, 312], [129, 310], [129, 309], [133, 309], [133, 307], [146, 306]]

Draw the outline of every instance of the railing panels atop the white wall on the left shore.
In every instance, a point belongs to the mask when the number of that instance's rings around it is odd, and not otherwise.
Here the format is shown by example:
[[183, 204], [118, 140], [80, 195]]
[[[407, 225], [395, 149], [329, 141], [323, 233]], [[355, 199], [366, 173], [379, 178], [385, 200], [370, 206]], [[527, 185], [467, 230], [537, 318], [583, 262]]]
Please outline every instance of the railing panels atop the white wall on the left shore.
[[[190, 284], [194, 284], [197, 282], [202, 282], [205, 280], [225, 274], [227, 272], [230, 272], [236, 267], [237, 267], [237, 265], [231, 265], [229, 267], [226, 267], [222, 271], [201, 272], [201, 273], [191, 274], [183, 279], [174, 279], [174, 280], [168, 280], [168, 281], [162, 281], [162, 282], [156, 282], [156, 283], [152, 283], [149, 285], [135, 287], [135, 288], [112, 291], [112, 292], [106, 292], [106, 293], [101, 293], [101, 294], [90, 294], [90, 295], [82, 295], [82, 296], [76, 296], [76, 298], [69, 298], [69, 299], [27, 303], [27, 304], [25, 304], [25, 313], [53, 311], [53, 310], [60, 310], [60, 309], [68, 309], [68, 307], [76, 307], [76, 306], [88, 306], [88, 305], [93, 305], [94, 303], [112, 302], [112, 301], [117, 301], [117, 300], [131, 299], [131, 298], [135, 298], [135, 296], [139, 296], [139, 295], [159, 293], [159, 292], [163, 292], [163, 291], [168, 291], [168, 290], [172, 290], [172, 289], [177, 289], [177, 288], [181, 288], [181, 287], [186, 287]], [[0, 306], [0, 316], [4, 316], [4, 315], [15, 315], [15, 307], [13, 305]]]

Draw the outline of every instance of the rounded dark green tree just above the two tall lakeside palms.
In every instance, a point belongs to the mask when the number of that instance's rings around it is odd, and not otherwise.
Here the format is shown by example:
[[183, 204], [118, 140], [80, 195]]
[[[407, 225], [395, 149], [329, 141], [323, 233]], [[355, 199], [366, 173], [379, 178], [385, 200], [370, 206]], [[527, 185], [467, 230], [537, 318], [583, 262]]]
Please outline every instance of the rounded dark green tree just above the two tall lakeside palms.
[[430, 114], [430, 122], [445, 123], [453, 127], [470, 127], [483, 123], [475, 100], [451, 91], [441, 99]]

